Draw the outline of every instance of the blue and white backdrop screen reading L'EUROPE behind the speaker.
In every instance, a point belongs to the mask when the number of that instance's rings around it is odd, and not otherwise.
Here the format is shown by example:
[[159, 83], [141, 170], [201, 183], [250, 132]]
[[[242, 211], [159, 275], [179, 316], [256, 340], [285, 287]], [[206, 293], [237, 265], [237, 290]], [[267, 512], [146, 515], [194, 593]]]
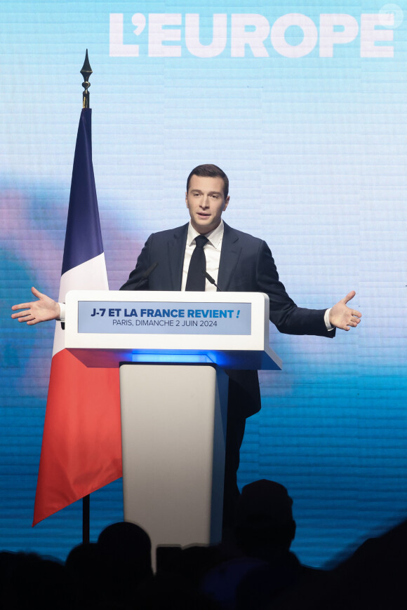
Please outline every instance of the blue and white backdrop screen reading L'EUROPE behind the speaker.
[[[267, 241], [298, 304], [356, 290], [357, 331], [272, 330], [284, 368], [261, 374], [239, 484], [286, 485], [315, 566], [405, 516], [407, 7], [271, 5], [2, 4], [1, 548], [65, 557], [81, 539], [80, 503], [31, 529], [53, 325], [9, 307], [58, 294], [86, 48], [112, 289], [150, 233], [187, 222], [189, 171], [216, 163], [225, 220]], [[120, 486], [95, 494], [93, 539], [121, 519]]]

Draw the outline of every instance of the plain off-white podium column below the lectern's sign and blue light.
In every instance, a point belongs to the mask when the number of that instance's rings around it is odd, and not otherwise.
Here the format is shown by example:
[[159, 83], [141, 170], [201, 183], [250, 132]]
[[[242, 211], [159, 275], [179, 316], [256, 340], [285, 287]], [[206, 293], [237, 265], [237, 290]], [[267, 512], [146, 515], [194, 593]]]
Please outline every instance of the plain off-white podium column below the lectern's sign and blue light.
[[222, 536], [227, 375], [211, 365], [121, 365], [124, 518], [159, 544]]

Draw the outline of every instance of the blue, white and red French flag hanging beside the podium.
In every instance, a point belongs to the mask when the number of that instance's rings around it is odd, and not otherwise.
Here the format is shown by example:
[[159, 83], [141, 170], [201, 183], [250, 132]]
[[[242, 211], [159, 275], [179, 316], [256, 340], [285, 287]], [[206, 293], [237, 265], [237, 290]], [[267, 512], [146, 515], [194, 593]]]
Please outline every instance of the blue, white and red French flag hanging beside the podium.
[[[59, 301], [68, 290], [108, 290], [92, 164], [91, 109], [83, 109], [72, 170]], [[121, 477], [119, 370], [88, 368], [56, 323], [33, 525]]]

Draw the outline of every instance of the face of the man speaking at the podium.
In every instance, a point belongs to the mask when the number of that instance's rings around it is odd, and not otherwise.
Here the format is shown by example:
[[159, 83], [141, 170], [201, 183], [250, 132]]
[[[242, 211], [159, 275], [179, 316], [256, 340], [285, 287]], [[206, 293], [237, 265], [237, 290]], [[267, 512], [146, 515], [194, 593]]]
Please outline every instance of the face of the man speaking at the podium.
[[222, 178], [192, 176], [185, 202], [191, 217], [191, 224], [198, 233], [209, 233], [220, 224], [223, 210], [227, 208], [229, 196], [223, 194]]

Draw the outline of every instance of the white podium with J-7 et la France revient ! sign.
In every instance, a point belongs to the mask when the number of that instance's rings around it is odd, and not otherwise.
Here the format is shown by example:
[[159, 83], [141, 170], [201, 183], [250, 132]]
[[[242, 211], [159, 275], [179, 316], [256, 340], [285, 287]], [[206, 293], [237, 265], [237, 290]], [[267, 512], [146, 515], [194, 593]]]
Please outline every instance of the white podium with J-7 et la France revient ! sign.
[[281, 369], [267, 295], [71, 291], [65, 348], [88, 367], [120, 367], [124, 519], [153, 548], [218, 543], [225, 369]]

